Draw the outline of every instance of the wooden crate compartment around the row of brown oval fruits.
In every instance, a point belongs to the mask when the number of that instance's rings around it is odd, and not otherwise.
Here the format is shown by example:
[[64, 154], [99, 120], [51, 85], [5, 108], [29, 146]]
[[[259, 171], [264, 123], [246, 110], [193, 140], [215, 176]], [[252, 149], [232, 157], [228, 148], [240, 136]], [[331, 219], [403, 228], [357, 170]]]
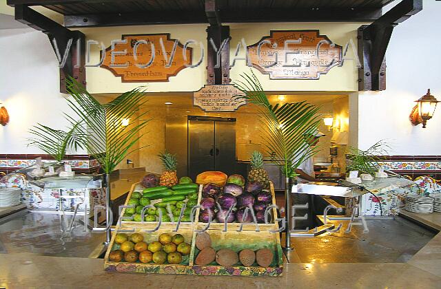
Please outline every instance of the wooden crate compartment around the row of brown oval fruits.
[[[196, 248], [196, 242], [192, 244], [192, 253], [190, 253], [189, 267], [187, 268], [188, 275], [227, 275], [227, 276], [267, 276], [277, 277], [283, 272], [283, 251], [280, 246], [280, 238], [278, 233], [269, 233], [269, 231], [206, 231], [212, 239], [212, 248], [214, 250], [231, 249], [235, 252], [240, 252], [243, 249], [258, 250], [268, 248], [274, 254], [271, 265], [267, 268], [260, 267], [255, 262], [253, 266], [247, 267], [240, 264], [235, 264], [231, 267], [220, 266], [216, 261], [206, 266], [194, 264], [199, 250]], [[194, 233], [196, 239], [196, 233]]]

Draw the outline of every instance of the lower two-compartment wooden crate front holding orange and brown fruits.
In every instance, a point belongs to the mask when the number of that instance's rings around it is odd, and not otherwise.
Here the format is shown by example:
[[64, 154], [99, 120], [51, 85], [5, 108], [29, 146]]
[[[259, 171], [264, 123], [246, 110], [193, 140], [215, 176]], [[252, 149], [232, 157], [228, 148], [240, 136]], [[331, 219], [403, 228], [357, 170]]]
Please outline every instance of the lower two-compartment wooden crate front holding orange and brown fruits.
[[[141, 233], [144, 236], [144, 241], [150, 243], [158, 239], [158, 235], [162, 233], [173, 233], [170, 229], [161, 228], [154, 233], [143, 233], [142, 229], [135, 229], [133, 233]], [[273, 253], [273, 261], [267, 268], [253, 264], [253, 266], [243, 266], [238, 262], [231, 267], [224, 267], [216, 264], [214, 261], [212, 264], [206, 266], [199, 266], [194, 264], [199, 250], [196, 248], [196, 232], [191, 229], [181, 229], [179, 231], [185, 237], [185, 242], [191, 240], [192, 250], [190, 254], [183, 259], [181, 264], [154, 264], [141, 263], [136, 261], [135, 263], [129, 263], [125, 261], [115, 262], [109, 260], [109, 255], [112, 250], [118, 249], [118, 244], [115, 244], [114, 239], [116, 234], [112, 236], [110, 246], [104, 257], [104, 269], [108, 272], [136, 272], [136, 273], [156, 273], [156, 274], [187, 274], [187, 275], [230, 275], [230, 276], [267, 276], [276, 277], [283, 272], [283, 252], [280, 247], [280, 239], [278, 233], [269, 233], [268, 231], [246, 231], [246, 232], [222, 232], [218, 230], [209, 230], [210, 237], [212, 238], [212, 247], [214, 250], [220, 250], [222, 248], [229, 248], [236, 251], [245, 248], [251, 250], [258, 250], [261, 248], [269, 248]]]

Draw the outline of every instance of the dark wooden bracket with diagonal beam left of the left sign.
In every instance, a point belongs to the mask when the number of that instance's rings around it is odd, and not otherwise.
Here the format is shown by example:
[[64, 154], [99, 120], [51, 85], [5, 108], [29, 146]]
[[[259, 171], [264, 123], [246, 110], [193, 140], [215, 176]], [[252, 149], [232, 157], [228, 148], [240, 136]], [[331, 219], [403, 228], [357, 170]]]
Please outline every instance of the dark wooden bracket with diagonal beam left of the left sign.
[[[68, 48], [68, 41], [72, 39], [65, 65], [60, 68], [60, 92], [66, 92], [65, 78], [68, 75], [85, 85], [85, 36], [83, 33], [71, 31], [28, 6], [19, 4], [15, 5], [15, 20], [47, 34], [54, 51], [56, 50], [54, 46], [55, 39], [61, 58], [63, 58], [64, 52]], [[79, 46], [77, 45], [78, 39], [80, 40]], [[78, 50], [79, 54], [77, 53]], [[80, 58], [78, 58], [78, 55]]]

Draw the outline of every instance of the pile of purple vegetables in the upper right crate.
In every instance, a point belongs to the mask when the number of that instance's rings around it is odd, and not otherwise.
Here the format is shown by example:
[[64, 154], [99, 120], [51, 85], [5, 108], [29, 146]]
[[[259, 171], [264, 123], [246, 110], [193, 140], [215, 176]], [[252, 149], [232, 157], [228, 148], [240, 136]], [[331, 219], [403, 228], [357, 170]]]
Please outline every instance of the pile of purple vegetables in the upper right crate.
[[251, 223], [254, 222], [252, 210], [256, 222], [263, 224], [266, 223], [265, 210], [272, 202], [273, 195], [262, 184], [250, 182], [245, 185], [241, 175], [231, 175], [223, 187], [214, 183], [203, 186], [198, 220], [203, 223]]

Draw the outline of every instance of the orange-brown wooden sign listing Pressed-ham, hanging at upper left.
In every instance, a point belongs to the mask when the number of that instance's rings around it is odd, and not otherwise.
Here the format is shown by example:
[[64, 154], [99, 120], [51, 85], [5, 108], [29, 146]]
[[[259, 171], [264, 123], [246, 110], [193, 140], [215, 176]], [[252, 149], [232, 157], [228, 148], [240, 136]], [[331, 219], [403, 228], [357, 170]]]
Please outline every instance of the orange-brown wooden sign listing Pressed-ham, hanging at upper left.
[[122, 40], [107, 47], [101, 67], [121, 76], [123, 83], [169, 81], [192, 63], [192, 48], [187, 47], [185, 59], [183, 45], [168, 33], [123, 35]]

